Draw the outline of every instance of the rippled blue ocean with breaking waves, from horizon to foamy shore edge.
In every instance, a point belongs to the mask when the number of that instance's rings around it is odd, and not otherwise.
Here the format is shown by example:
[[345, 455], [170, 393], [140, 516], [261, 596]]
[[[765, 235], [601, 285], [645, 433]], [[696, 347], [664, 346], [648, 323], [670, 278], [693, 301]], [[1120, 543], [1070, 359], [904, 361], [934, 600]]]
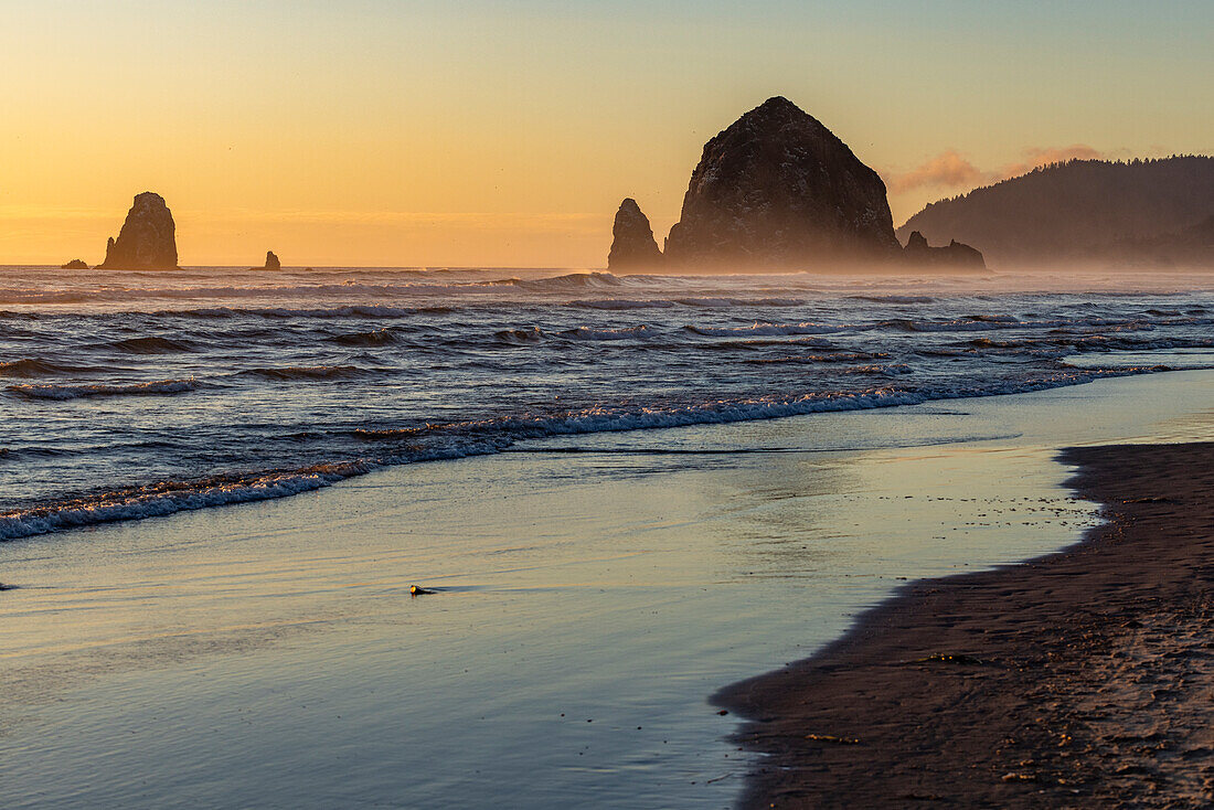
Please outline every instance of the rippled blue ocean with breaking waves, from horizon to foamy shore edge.
[[1212, 324], [1214, 284], [1179, 274], [0, 268], [0, 538], [523, 438], [1158, 370]]

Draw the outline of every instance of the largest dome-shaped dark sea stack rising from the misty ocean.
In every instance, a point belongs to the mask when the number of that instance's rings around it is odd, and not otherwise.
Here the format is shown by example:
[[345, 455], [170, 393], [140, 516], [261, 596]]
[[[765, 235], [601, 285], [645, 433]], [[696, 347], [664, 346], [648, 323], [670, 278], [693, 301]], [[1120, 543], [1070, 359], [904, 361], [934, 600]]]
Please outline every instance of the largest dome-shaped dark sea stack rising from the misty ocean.
[[738, 268], [898, 257], [885, 183], [779, 96], [704, 146], [665, 249], [671, 264]]

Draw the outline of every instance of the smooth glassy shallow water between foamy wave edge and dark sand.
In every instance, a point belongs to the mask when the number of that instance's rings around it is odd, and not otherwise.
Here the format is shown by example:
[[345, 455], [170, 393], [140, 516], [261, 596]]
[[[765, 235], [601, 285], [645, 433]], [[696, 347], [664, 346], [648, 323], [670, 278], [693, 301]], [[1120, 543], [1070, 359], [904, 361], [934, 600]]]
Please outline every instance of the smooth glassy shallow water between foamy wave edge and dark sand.
[[1074, 539], [1051, 448], [1208, 437], [1212, 383], [534, 440], [0, 544], [6, 806], [727, 806], [713, 691]]

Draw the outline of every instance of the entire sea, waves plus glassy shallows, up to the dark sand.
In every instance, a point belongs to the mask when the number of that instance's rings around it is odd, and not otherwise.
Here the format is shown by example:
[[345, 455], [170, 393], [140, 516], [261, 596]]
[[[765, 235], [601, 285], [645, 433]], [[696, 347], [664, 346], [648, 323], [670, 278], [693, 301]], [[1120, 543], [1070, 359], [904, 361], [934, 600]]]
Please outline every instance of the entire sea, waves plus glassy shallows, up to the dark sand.
[[1212, 318], [1181, 274], [0, 270], [5, 804], [730, 806], [710, 696], [1079, 539], [1057, 448], [1208, 440]]

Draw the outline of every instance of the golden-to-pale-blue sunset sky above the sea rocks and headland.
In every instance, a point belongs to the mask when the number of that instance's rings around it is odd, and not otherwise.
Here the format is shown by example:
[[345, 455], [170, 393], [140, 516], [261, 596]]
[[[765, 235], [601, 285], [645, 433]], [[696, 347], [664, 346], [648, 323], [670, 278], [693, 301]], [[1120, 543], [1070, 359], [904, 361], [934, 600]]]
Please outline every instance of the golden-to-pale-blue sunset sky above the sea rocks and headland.
[[[660, 7], [653, 7], [660, 6]], [[772, 95], [895, 223], [1050, 157], [1214, 151], [1214, 2], [0, 0], [0, 264], [98, 262], [135, 193], [183, 265], [606, 264]]]

